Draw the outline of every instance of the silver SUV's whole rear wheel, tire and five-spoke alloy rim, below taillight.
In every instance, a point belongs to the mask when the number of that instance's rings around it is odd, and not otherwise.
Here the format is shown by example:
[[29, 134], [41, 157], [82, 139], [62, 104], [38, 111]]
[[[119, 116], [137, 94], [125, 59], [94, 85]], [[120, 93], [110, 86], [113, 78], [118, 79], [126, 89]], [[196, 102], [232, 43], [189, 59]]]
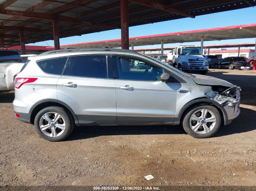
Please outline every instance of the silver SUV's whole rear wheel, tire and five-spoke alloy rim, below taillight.
[[62, 141], [75, 126], [72, 115], [62, 107], [46, 107], [35, 116], [37, 133], [48, 141]]

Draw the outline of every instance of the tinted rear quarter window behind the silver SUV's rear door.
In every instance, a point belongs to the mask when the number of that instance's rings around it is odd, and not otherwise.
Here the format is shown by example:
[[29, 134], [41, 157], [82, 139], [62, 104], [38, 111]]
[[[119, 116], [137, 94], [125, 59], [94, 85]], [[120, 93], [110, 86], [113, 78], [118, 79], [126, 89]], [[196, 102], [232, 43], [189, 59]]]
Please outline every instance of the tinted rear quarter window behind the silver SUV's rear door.
[[38, 66], [48, 74], [62, 75], [65, 63], [68, 58], [56, 58], [38, 61]]

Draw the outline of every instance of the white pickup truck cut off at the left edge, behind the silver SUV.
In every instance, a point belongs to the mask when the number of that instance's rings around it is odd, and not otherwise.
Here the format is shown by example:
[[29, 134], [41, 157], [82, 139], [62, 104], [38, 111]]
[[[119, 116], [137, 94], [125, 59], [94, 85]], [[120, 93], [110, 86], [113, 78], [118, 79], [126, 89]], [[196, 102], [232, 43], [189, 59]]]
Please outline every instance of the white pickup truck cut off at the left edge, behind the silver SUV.
[[17, 50], [0, 48], [0, 93], [14, 90], [14, 79], [23, 65]]

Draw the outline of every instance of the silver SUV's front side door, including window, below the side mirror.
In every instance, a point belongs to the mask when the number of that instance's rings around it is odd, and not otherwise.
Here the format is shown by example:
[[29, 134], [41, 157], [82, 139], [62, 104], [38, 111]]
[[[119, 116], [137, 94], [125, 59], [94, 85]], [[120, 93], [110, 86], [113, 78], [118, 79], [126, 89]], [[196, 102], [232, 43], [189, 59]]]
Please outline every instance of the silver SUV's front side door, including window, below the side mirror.
[[[111, 56], [116, 88], [117, 124], [173, 124], [177, 88], [156, 80], [163, 68], [133, 56]], [[129, 68], [134, 60], [143, 68]]]

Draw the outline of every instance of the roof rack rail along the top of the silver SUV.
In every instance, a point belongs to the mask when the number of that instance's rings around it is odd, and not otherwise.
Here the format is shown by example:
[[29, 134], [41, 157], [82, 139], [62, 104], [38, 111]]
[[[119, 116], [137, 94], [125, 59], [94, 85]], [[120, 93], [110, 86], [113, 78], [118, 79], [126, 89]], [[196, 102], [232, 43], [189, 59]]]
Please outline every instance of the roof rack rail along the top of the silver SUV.
[[129, 49], [119, 49], [119, 48], [68, 48], [68, 49], [61, 49], [61, 50], [50, 50], [42, 54], [52, 54], [52, 53], [62, 53], [62, 52], [75, 52], [75, 51], [120, 51], [120, 52], [130, 52], [139, 54], [136, 51], [129, 50]]

